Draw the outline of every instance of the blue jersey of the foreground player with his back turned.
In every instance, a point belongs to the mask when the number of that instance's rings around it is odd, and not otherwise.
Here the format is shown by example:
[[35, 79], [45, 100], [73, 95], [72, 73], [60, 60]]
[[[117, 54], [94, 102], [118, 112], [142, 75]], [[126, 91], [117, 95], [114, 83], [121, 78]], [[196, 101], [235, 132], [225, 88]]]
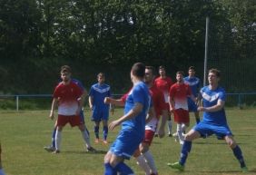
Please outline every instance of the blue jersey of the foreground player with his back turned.
[[133, 86], [131, 92], [129, 92], [124, 106], [124, 113], [126, 114], [130, 112], [136, 102], [143, 104], [143, 111], [137, 116], [133, 117], [133, 119], [123, 122], [122, 129], [126, 131], [133, 130], [138, 134], [139, 137], [143, 138], [145, 131], [145, 119], [151, 105], [149, 89], [143, 82], [137, 83], [135, 86]]

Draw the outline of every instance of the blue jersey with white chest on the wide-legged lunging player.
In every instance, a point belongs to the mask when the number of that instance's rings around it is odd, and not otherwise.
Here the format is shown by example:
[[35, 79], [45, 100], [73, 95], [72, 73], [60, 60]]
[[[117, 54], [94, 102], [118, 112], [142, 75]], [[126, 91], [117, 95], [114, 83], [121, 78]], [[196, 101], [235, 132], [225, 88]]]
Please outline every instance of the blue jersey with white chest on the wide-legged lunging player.
[[[201, 89], [202, 105], [203, 107], [212, 107], [217, 104], [218, 100], [226, 100], [226, 92], [221, 87], [215, 90], [210, 90], [209, 86], [204, 86]], [[203, 112], [202, 122], [210, 123], [213, 125], [227, 125], [226, 114], [224, 108], [218, 112]]]

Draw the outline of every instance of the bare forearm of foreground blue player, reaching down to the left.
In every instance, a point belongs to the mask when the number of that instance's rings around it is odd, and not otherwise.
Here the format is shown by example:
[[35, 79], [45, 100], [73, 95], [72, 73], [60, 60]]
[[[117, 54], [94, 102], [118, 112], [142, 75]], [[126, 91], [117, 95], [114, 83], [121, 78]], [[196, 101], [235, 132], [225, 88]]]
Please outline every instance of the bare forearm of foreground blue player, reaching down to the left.
[[130, 112], [127, 112], [125, 115], [123, 115], [118, 120], [111, 122], [108, 126], [109, 129], [113, 130], [116, 126], [120, 125], [122, 122], [132, 119], [133, 117], [135, 117], [142, 111], [143, 111], [143, 104], [140, 102], [136, 102], [133, 109], [130, 110]]

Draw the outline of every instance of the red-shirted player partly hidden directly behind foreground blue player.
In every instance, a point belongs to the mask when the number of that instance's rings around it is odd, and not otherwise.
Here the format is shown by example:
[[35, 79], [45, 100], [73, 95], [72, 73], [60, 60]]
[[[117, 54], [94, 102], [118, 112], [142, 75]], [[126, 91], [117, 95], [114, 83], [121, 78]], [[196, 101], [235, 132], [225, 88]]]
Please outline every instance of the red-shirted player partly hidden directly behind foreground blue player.
[[[155, 71], [153, 66], [146, 66], [145, 69], [145, 83], [147, 84], [152, 100], [153, 100], [153, 114], [149, 113], [145, 125], [145, 136], [143, 142], [140, 144], [140, 148], [135, 151], [134, 157], [137, 160], [137, 164], [145, 171], [147, 175], [158, 174], [153, 155], [151, 153], [150, 145], [153, 141], [153, 136], [157, 130], [157, 125], [162, 115], [162, 122], [159, 128], [158, 134], [162, 138], [164, 136], [164, 126], [168, 116], [168, 109], [165, 105], [164, 96], [154, 84]], [[169, 106], [168, 106], [169, 107]]]

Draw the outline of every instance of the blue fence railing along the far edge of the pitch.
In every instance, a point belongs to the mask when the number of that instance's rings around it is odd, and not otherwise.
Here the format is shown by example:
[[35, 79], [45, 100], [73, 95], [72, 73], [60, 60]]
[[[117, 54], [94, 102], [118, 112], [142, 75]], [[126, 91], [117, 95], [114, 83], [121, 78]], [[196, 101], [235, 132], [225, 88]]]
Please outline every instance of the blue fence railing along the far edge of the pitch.
[[[256, 105], [256, 92], [238, 92], [238, 93], [226, 93], [227, 94], [227, 102], [233, 103], [238, 107], [241, 107], [245, 102], [249, 102], [251, 104]], [[119, 98], [123, 94], [114, 93], [113, 97]], [[15, 99], [15, 109], [19, 111], [20, 108], [20, 100], [25, 98], [49, 98], [52, 97], [52, 94], [15, 94], [15, 95], [0, 95], [0, 99]]]

